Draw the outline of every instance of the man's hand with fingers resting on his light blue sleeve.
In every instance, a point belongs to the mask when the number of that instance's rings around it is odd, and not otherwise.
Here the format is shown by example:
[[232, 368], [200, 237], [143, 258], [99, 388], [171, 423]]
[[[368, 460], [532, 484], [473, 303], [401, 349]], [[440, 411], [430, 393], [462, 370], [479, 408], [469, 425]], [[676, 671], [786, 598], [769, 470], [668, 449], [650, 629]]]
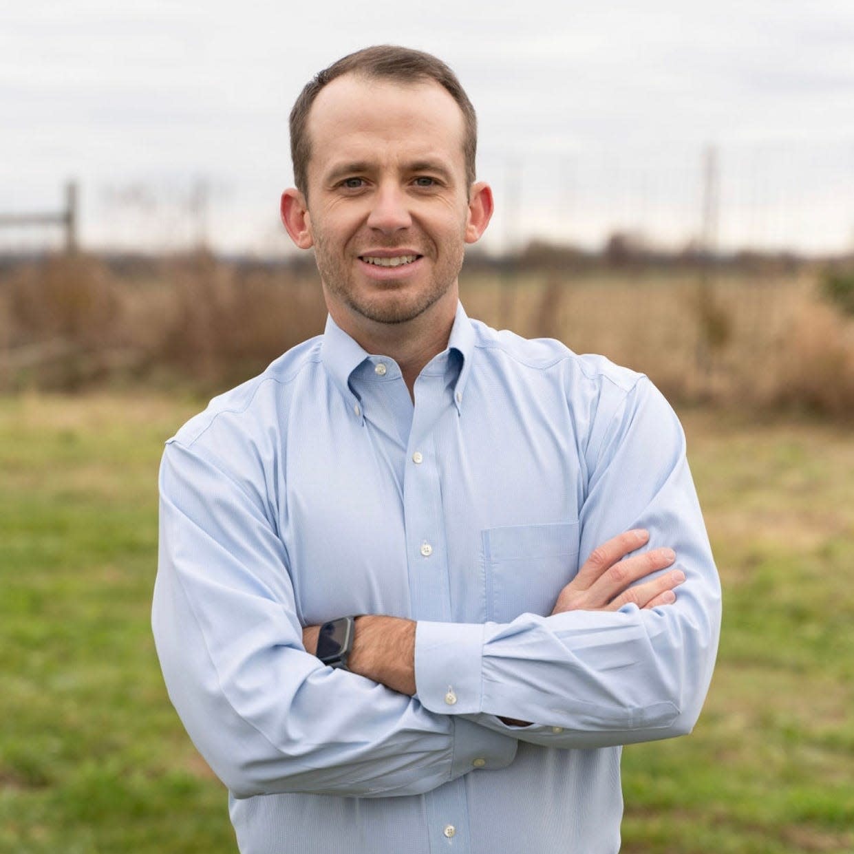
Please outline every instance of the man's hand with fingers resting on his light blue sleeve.
[[617, 611], [631, 602], [639, 608], [654, 608], [675, 602], [673, 588], [685, 581], [685, 573], [681, 570], [671, 570], [652, 581], [630, 586], [653, 572], [664, 570], [676, 560], [671, 548], [654, 548], [625, 557], [647, 541], [648, 531], [631, 530], [594, 548], [575, 578], [560, 591], [552, 613]]

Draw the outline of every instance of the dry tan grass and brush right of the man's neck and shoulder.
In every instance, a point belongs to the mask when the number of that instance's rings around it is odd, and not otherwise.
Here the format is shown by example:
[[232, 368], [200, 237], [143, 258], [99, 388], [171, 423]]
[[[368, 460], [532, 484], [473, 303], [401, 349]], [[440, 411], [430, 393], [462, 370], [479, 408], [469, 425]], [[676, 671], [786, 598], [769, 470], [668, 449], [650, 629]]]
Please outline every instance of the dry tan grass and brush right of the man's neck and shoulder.
[[463, 300], [490, 325], [642, 371], [676, 401], [854, 416], [854, 319], [822, 301], [816, 272], [482, 276]]

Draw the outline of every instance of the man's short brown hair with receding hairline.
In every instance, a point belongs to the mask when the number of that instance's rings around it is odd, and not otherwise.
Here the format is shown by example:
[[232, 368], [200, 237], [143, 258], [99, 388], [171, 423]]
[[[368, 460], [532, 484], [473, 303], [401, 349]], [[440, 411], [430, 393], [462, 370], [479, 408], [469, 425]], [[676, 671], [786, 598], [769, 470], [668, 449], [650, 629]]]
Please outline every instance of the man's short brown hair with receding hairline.
[[333, 62], [330, 67], [314, 75], [296, 99], [290, 111], [290, 157], [294, 163], [294, 182], [298, 190], [307, 195], [308, 160], [311, 157], [311, 139], [308, 137], [308, 114], [321, 89], [336, 77], [358, 73], [367, 78], [400, 80], [403, 83], [422, 83], [435, 80], [444, 86], [457, 102], [465, 121], [463, 155], [465, 179], [471, 187], [475, 181], [475, 156], [477, 155], [477, 116], [469, 97], [459, 83], [457, 75], [436, 56], [421, 50], [401, 48], [395, 44], [377, 44], [357, 50]]

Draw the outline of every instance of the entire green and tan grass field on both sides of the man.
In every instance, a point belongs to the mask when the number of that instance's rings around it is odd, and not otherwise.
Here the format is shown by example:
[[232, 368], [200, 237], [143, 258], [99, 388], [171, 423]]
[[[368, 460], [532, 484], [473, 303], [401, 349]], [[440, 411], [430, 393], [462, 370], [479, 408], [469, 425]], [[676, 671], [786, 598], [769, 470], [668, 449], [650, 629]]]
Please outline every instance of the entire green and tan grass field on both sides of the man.
[[[3, 854], [236, 850], [149, 631], [161, 445], [201, 405], [0, 399]], [[854, 851], [854, 440], [683, 417], [722, 646], [694, 734], [624, 752], [623, 851]]]

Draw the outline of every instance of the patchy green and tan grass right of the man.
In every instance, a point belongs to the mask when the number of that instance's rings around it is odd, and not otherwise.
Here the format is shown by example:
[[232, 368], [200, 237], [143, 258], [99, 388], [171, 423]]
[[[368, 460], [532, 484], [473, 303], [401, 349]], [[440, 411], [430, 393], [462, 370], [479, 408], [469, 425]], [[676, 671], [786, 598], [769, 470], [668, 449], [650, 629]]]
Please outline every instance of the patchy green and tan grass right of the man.
[[690, 738], [623, 753], [623, 851], [854, 851], [854, 441], [690, 412], [721, 571], [720, 654]]

